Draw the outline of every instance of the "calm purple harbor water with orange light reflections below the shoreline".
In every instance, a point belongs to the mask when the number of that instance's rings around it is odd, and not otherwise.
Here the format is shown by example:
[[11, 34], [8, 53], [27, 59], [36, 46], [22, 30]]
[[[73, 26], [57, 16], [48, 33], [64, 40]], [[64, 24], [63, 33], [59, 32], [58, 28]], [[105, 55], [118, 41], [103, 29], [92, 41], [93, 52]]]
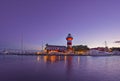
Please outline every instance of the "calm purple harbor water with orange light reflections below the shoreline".
[[120, 81], [120, 56], [0, 55], [0, 81]]

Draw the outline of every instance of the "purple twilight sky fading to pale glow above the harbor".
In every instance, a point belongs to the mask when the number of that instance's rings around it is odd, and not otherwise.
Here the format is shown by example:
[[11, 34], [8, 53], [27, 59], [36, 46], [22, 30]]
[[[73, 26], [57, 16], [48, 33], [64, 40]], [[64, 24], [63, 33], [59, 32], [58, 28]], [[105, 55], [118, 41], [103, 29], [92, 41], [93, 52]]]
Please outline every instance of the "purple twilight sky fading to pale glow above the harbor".
[[0, 0], [0, 48], [120, 47], [120, 0]]

